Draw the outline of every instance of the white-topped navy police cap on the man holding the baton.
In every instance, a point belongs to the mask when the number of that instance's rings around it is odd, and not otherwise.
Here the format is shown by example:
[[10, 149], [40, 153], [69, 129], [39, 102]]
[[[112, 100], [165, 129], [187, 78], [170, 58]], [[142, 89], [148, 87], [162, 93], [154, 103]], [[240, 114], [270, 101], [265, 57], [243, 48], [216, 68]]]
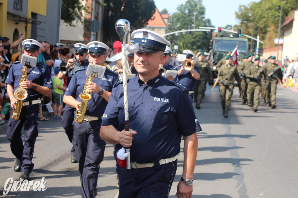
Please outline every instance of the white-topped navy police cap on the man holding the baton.
[[139, 51], [141, 52], [164, 52], [166, 46], [171, 45], [171, 43], [164, 37], [147, 29], [135, 30], [131, 33], [131, 38], [134, 39], [134, 43], [139, 43]]

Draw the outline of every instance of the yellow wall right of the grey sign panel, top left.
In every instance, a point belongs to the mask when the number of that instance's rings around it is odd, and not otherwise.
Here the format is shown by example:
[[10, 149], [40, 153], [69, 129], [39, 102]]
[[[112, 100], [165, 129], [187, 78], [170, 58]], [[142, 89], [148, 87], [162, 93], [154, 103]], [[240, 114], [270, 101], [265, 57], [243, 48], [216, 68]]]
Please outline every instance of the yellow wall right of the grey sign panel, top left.
[[[46, 0], [28, 0], [27, 17], [31, 18], [31, 12], [46, 16]], [[30, 38], [30, 35], [31, 24], [27, 24], [26, 38]]]

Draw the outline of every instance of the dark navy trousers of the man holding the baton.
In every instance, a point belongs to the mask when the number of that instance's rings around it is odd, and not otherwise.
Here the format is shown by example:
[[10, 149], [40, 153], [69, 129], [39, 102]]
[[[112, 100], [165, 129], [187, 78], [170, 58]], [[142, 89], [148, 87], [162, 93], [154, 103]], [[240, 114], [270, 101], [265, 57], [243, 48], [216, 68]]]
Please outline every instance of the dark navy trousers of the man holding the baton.
[[[155, 163], [156, 164], [156, 163]], [[166, 198], [177, 170], [177, 160], [168, 164], [131, 169], [117, 166], [119, 198]]]

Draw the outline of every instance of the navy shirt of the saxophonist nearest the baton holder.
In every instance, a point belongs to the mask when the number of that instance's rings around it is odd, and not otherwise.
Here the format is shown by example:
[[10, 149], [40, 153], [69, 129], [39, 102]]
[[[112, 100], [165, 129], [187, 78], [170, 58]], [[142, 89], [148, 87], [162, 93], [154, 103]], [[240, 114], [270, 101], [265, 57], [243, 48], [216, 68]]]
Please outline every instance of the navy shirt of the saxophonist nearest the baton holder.
[[[77, 70], [64, 95], [71, 95], [77, 101], [81, 101], [80, 94], [83, 93], [86, 78], [86, 68]], [[94, 78], [93, 80], [94, 83], [108, 92], [112, 91], [113, 84], [117, 81], [119, 81], [118, 74], [108, 69], [105, 69], [103, 78]], [[91, 92], [91, 96], [92, 98], [88, 101], [88, 109], [85, 115], [101, 117], [108, 102], [97, 93]]]

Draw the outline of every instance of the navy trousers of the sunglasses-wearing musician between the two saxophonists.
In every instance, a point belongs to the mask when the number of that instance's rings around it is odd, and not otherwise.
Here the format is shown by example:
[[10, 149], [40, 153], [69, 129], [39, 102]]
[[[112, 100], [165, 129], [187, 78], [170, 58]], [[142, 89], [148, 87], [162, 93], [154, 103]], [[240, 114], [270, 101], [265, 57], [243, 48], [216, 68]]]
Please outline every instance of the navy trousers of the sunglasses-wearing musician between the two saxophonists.
[[[70, 142], [72, 142], [72, 138], [74, 136], [74, 127], [72, 126], [72, 122], [75, 119], [75, 108], [70, 107], [69, 105], [65, 105], [63, 109], [63, 117], [62, 117], [62, 125], [65, 129], [65, 133]], [[71, 155], [75, 155], [75, 147], [72, 147], [70, 151]]]

